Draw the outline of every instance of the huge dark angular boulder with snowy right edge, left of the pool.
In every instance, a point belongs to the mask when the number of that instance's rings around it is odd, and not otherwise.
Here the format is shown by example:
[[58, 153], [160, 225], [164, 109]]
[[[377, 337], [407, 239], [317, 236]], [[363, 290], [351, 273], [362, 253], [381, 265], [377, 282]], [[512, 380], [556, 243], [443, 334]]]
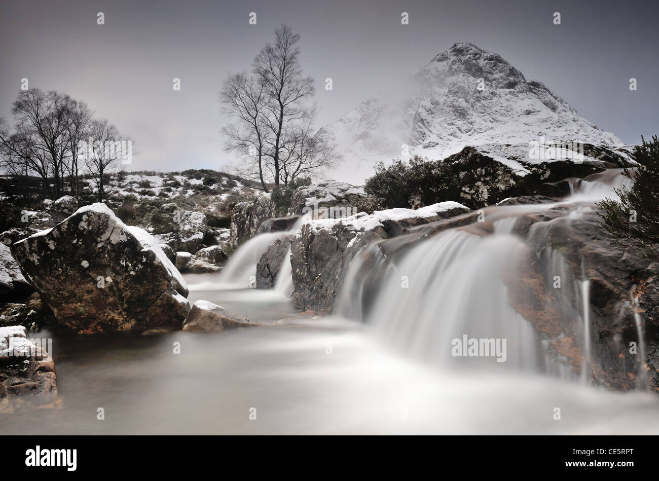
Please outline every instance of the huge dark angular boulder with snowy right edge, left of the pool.
[[77, 333], [179, 329], [190, 304], [158, 242], [105, 204], [13, 244], [22, 273], [57, 322]]

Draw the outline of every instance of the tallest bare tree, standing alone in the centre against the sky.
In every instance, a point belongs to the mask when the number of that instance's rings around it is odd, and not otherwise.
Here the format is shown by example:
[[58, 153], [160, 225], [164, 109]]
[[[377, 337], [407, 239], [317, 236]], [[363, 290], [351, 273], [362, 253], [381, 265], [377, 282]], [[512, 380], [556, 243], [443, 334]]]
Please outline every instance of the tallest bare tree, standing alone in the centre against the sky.
[[266, 192], [268, 183], [288, 184], [337, 160], [328, 142], [312, 136], [314, 80], [302, 75], [299, 40], [289, 26], [275, 29], [275, 42], [256, 55], [251, 74], [227, 77], [219, 96], [233, 120], [222, 130], [225, 150], [241, 155], [237, 170]]

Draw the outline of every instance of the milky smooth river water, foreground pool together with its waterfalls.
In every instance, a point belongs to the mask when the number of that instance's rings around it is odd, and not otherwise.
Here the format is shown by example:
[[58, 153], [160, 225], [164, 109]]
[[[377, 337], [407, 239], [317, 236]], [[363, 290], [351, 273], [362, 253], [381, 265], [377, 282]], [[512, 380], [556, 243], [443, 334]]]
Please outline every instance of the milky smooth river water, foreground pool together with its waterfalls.
[[[185, 277], [190, 302], [208, 300], [269, 327], [51, 333], [59, 406], [0, 405], [0, 434], [656, 434], [656, 395], [574, 382], [548, 354], [548, 340], [511, 308], [511, 273], [529, 254], [512, 231], [517, 215], [537, 208], [494, 210], [488, 235], [451, 229], [395, 263], [378, 244], [369, 246], [368, 260], [352, 262], [327, 318], [293, 308], [288, 257], [275, 289], [246, 288], [258, 258], [282, 234], [259, 235], [220, 279]], [[529, 238], [541, 234], [542, 226]], [[558, 276], [559, 308], [581, 319], [589, 339], [588, 310], [575, 308], [587, 303], [587, 285], [558, 251], [543, 250], [538, 262], [548, 285]], [[379, 277], [368, 310], [360, 302], [365, 268]], [[505, 361], [455, 355], [467, 352], [470, 338], [505, 339]], [[465, 345], [457, 349], [456, 339]], [[491, 347], [497, 354], [498, 345]]]

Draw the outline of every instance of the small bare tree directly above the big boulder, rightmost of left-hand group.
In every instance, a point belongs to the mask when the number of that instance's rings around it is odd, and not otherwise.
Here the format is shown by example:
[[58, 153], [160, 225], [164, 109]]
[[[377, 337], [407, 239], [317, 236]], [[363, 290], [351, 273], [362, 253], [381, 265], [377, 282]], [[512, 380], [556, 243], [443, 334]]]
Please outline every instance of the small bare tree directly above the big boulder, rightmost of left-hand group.
[[86, 169], [98, 192], [98, 202], [103, 202], [109, 187], [107, 174], [111, 172], [121, 157], [117, 143], [121, 142], [119, 130], [105, 119], [94, 119], [88, 129], [88, 144], [85, 152], [80, 152]]

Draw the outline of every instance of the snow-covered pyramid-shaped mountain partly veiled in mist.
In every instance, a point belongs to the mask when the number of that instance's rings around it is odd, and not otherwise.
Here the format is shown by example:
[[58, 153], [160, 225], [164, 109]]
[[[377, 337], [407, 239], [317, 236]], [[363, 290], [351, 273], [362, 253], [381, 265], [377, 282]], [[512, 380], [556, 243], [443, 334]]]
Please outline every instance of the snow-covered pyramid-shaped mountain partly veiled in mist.
[[373, 174], [375, 161], [405, 158], [407, 152], [444, 159], [482, 144], [624, 145], [501, 55], [467, 42], [455, 43], [318, 135], [334, 140], [344, 156], [334, 177], [357, 183]]

